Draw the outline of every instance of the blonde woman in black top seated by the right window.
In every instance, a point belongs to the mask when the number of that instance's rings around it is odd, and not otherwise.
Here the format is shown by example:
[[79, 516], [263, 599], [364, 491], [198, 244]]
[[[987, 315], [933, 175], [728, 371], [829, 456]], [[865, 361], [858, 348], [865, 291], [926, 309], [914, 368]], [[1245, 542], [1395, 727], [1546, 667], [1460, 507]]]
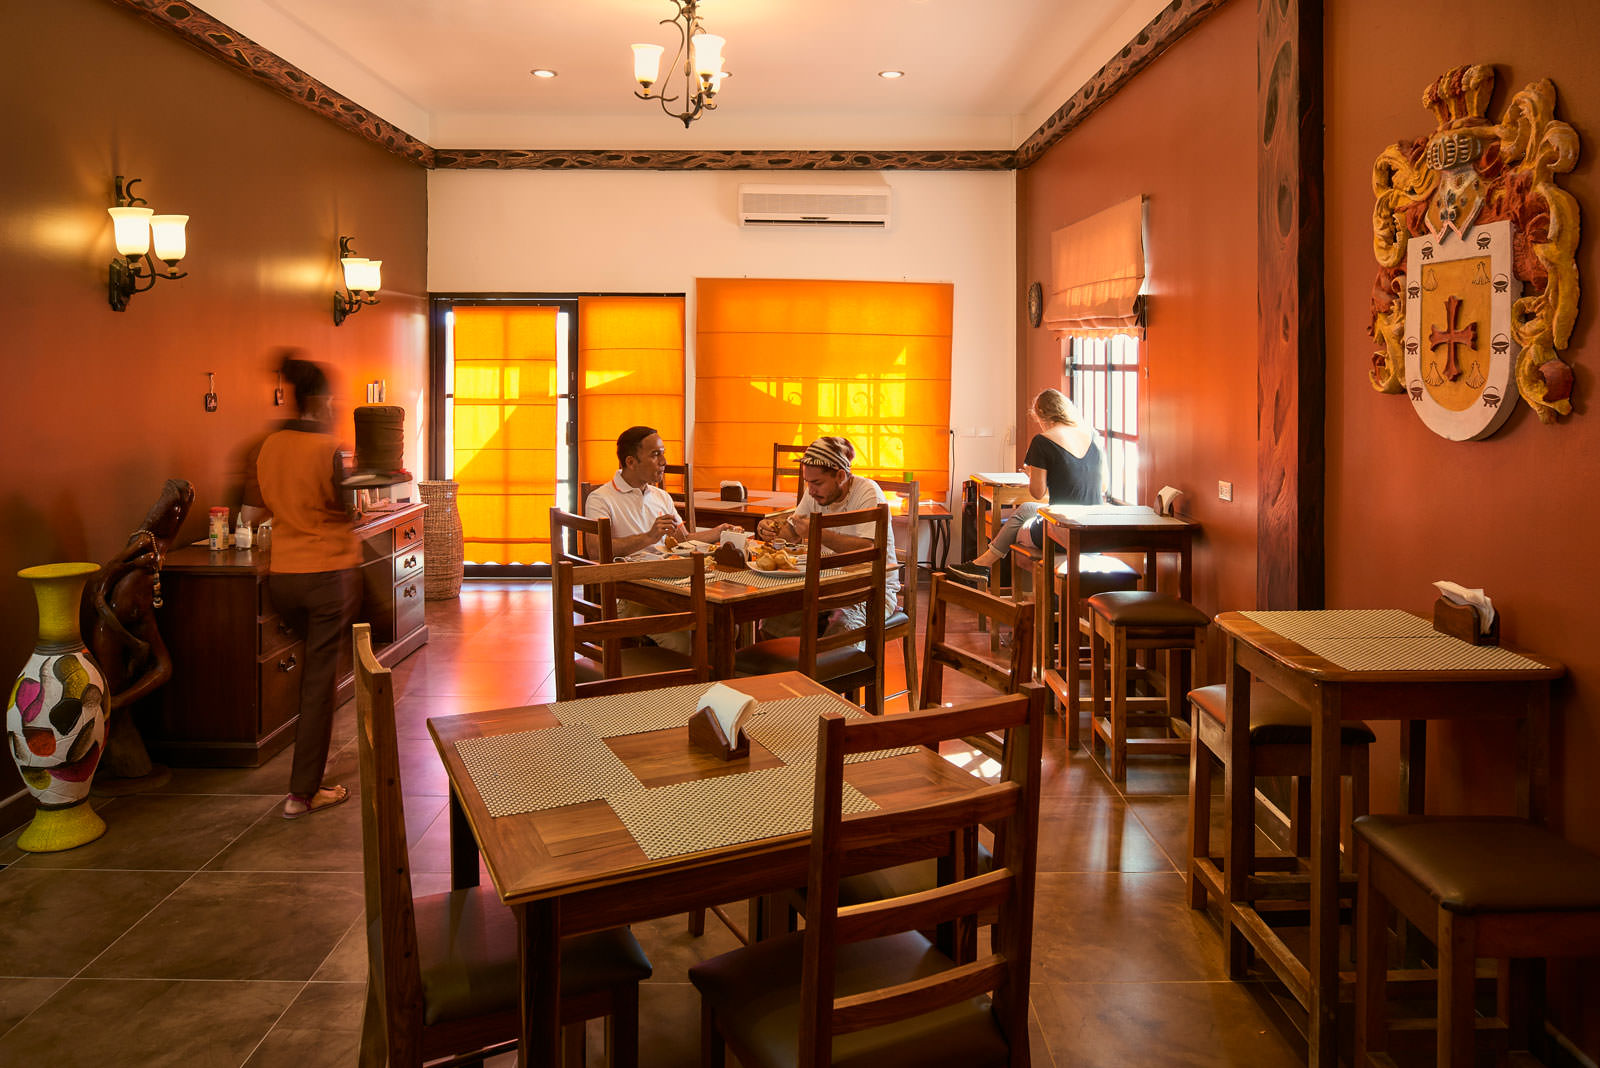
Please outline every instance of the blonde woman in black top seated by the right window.
[[1029, 411], [1038, 433], [1027, 444], [1022, 470], [1035, 500], [1021, 504], [1000, 524], [1000, 531], [981, 556], [966, 564], [950, 564], [947, 572], [958, 582], [989, 585], [989, 568], [1005, 560], [1021, 537], [1024, 545], [1038, 548], [1038, 510], [1050, 504], [1101, 504], [1106, 499], [1106, 475], [1094, 427], [1083, 422], [1078, 409], [1061, 390], [1043, 390]]

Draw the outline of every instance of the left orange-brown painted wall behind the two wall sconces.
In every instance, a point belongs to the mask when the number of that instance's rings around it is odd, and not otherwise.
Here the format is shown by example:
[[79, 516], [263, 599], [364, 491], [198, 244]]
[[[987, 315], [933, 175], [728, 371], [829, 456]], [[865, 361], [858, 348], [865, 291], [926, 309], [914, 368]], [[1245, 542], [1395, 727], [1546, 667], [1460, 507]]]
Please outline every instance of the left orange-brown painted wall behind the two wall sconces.
[[[237, 452], [282, 411], [269, 357], [336, 369], [349, 409], [389, 382], [419, 452], [427, 369], [426, 173], [102, 0], [0, 6], [0, 675], [34, 641], [18, 568], [102, 561], [168, 476], [187, 532], [229, 499]], [[189, 277], [106, 304], [112, 177], [190, 214]], [[382, 304], [334, 328], [338, 237], [384, 261]], [[202, 408], [206, 371], [221, 406]], [[0, 803], [21, 790], [0, 761]], [[32, 804], [0, 811], [0, 827]]]

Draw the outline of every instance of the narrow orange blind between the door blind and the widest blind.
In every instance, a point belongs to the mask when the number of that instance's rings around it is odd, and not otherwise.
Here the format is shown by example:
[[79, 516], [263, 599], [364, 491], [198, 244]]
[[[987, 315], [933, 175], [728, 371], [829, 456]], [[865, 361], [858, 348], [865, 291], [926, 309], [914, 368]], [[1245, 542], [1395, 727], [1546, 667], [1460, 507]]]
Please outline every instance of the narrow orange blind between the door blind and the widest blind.
[[578, 478], [616, 472], [616, 436], [654, 427], [683, 464], [683, 297], [578, 299]]

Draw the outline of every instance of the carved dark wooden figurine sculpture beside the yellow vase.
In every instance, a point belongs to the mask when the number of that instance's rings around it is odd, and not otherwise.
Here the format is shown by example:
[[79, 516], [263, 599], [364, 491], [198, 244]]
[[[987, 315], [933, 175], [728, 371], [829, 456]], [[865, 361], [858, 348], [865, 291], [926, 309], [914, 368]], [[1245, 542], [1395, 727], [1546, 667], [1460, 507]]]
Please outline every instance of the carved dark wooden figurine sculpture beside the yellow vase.
[[194, 499], [194, 486], [168, 478], [139, 529], [83, 593], [83, 636], [110, 694], [106, 756], [96, 785], [110, 785], [110, 791], [117, 791], [114, 779], [149, 779], [155, 771], [133, 721], [133, 705], [173, 675], [155, 609], [162, 604], [162, 560], [178, 540]]

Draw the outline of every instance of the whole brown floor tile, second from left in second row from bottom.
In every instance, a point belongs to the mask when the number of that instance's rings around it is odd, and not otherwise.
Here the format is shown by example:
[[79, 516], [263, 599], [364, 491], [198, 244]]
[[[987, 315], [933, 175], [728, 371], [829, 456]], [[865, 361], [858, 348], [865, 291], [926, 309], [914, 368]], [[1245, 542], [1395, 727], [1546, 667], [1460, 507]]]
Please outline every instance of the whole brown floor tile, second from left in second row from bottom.
[[307, 980], [360, 915], [360, 875], [200, 871], [83, 974]]

